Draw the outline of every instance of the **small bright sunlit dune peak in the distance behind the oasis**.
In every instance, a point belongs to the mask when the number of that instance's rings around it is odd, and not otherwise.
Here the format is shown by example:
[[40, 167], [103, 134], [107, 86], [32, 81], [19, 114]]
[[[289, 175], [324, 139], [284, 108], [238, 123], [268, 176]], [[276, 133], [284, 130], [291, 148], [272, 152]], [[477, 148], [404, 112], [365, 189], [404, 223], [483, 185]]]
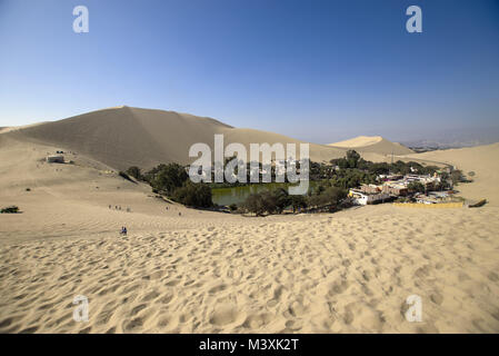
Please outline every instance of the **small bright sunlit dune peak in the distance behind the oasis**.
[[381, 136], [358, 136], [356, 138], [329, 144], [331, 147], [351, 148], [359, 152], [380, 155], [410, 155], [413, 151], [398, 142], [391, 142]]

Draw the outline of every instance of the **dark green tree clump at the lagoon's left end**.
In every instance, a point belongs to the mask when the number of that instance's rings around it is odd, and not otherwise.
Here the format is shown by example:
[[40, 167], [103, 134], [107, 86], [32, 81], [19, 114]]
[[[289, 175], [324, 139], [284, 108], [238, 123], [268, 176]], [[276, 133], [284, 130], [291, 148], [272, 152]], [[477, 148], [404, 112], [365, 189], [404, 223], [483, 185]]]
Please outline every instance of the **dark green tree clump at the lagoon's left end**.
[[166, 195], [186, 206], [209, 208], [213, 205], [210, 187], [191, 182], [186, 168], [178, 164], [161, 164], [146, 174], [138, 167], [130, 167], [126, 174], [148, 182], [153, 192]]

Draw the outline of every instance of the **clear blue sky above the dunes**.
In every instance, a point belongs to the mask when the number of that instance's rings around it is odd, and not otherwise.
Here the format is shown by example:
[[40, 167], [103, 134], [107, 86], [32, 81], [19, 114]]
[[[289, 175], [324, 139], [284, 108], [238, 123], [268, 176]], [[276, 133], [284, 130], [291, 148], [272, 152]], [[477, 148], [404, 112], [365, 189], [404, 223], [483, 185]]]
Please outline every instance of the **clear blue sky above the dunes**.
[[119, 105], [321, 144], [497, 128], [499, 1], [0, 0], [0, 127]]

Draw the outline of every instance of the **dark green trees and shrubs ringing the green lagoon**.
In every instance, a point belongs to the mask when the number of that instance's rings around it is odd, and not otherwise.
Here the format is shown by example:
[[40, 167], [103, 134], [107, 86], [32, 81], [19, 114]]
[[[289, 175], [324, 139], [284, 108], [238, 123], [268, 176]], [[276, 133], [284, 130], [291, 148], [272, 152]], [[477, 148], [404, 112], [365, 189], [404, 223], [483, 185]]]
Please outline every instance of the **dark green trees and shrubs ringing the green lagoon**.
[[[224, 166], [233, 159], [237, 159], [237, 157], [227, 158]], [[214, 188], [265, 185], [250, 181], [250, 164], [247, 164], [248, 182], [194, 184], [189, 179], [188, 168], [188, 166], [179, 164], [161, 164], [143, 174], [139, 167], [133, 166], [123, 174], [127, 177], [148, 182], [156, 194], [167, 196], [177, 202], [193, 208], [213, 207], [211, 189]], [[261, 178], [262, 166], [259, 165], [259, 178]], [[299, 162], [297, 162], [297, 168], [299, 168]], [[292, 212], [333, 211], [348, 206], [348, 189], [361, 185], [379, 184], [382, 175], [433, 175], [436, 172], [439, 172], [443, 178], [440, 189], [448, 188], [445, 186], [448, 185], [448, 181], [453, 184], [466, 181], [460, 170], [443, 172], [437, 166], [423, 166], [416, 161], [372, 162], [361, 158], [357, 151], [349, 150], [343, 158], [331, 159], [329, 164], [310, 162], [309, 180], [316, 184], [309, 187], [306, 195], [292, 196], [288, 195], [288, 190], [285, 189], [286, 186], [273, 187], [271, 190], [250, 194], [240, 204], [230, 204], [229, 211], [250, 212], [257, 216], [282, 214], [286, 210]], [[234, 174], [237, 174], [237, 167]], [[276, 180], [275, 167], [271, 167], [271, 178], [272, 181]], [[425, 187], [419, 182], [410, 184], [408, 189], [413, 192], [425, 191]]]

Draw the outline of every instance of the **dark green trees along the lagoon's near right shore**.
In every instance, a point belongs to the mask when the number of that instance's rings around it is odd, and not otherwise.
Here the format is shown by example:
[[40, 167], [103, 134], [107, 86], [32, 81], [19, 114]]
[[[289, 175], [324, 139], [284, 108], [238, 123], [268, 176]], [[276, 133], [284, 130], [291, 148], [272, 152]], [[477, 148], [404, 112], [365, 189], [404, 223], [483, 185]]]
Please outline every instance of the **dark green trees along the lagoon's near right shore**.
[[347, 198], [347, 190], [323, 182], [307, 195], [289, 195], [283, 188], [250, 195], [241, 205], [242, 210], [257, 216], [281, 214], [286, 208], [297, 210], [335, 210]]

